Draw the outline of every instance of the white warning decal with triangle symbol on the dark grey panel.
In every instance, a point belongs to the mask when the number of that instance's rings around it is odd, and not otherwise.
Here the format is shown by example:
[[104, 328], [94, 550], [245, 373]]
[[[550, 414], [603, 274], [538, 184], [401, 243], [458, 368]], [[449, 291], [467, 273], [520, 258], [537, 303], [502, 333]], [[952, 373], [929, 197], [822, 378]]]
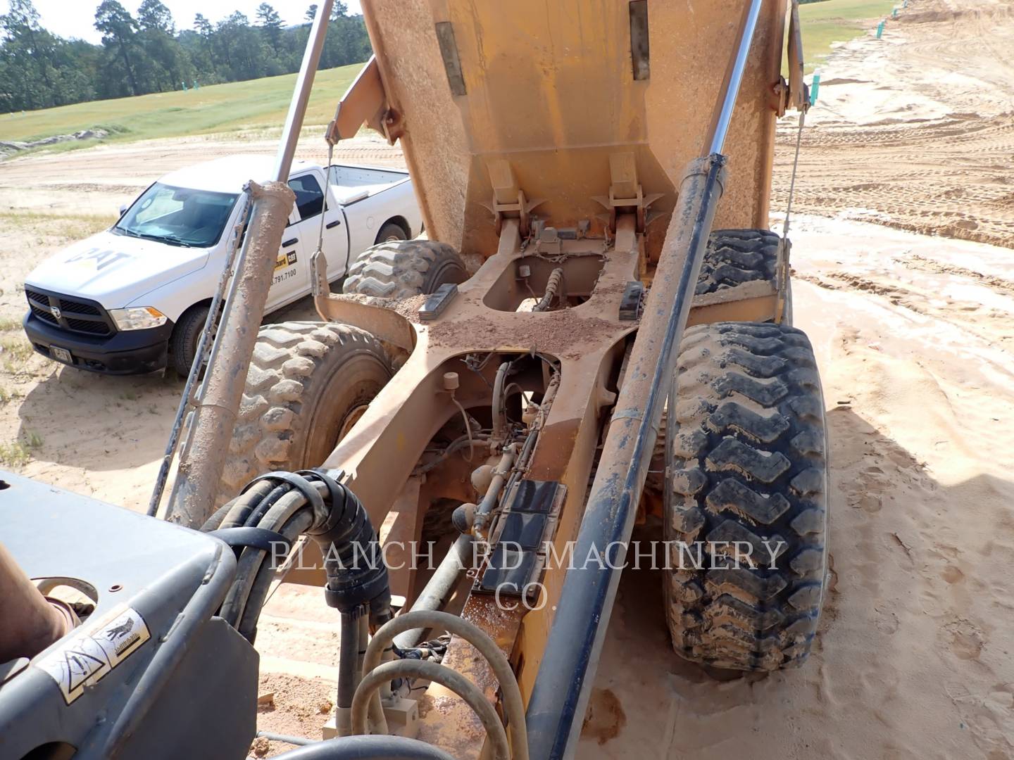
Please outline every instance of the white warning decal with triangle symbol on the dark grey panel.
[[98, 620], [88, 620], [55, 651], [32, 665], [48, 673], [70, 704], [151, 638], [141, 614], [121, 605]]

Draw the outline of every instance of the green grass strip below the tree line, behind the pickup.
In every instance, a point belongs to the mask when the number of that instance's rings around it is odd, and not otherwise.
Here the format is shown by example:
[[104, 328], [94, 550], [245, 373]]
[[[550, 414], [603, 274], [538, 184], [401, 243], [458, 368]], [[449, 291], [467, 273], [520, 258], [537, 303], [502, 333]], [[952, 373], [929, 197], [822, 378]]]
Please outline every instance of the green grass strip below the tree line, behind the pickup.
[[[328, 124], [335, 106], [362, 64], [318, 72], [304, 124]], [[201, 87], [188, 92], [158, 92], [117, 100], [94, 100], [0, 117], [0, 140], [30, 142], [96, 127], [105, 140], [146, 140], [237, 130], [280, 129], [289, 109], [296, 75]], [[95, 141], [59, 143], [49, 150], [83, 147]]]

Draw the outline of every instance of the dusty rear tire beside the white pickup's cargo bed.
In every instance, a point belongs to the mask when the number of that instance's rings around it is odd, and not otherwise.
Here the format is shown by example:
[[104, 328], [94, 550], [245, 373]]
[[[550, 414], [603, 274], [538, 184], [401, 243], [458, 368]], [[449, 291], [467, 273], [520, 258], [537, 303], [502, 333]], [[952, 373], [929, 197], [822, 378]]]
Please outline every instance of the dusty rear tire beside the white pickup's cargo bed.
[[363, 251], [349, 268], [344, 293], [380, 298], [430, 294], [444, 283], [463, 283], [464, 262], [451, 246], [433, 240], [395, 240]]

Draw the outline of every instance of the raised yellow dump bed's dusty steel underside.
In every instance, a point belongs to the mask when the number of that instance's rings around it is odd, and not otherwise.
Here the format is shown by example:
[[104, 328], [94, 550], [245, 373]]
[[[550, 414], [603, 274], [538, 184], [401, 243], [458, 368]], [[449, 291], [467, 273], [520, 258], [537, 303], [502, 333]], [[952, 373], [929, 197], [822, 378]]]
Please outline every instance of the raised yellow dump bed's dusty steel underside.
[[[600, 230], [594, 196], [608, 194], [609, 157], [629, 152], [645, 195], [665, 194], [652, 206], [657, 253], [683, 166], [706, 152], [742, 10], [741, 0], [648, 3], [650, 76], [634, 79], [626, 2], [364, 0], [430, 236], [466, 254], [495, 250], [497, 161], [529, 202], [544, 201], [533, 213]], [[785, 11], [786, 0], [765, 0], [727, 140], [722, 227], [767, 226]], [[463, 95], [448, 85], [436, 26], [444, 22]]]

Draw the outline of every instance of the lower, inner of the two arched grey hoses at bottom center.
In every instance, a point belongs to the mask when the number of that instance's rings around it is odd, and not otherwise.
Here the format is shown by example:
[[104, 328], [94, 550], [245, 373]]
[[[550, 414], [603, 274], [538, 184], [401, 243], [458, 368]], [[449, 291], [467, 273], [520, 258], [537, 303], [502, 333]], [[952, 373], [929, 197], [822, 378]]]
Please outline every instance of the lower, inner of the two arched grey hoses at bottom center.
[[486, 729], [493, 744], [493, 757], [496, 760], [510, 760], [507, 734], [497, 711], [493, 709], [493, 705], [482, 690], [457, 671], [422, 660], [392, 660], [377, 666], [363, 677], [359, 688], [356, 689], [355, 699], [352, 700], [352, 730], [356, 734], [366, 734], [369, 703], [377, 689], [395, 678], [423, 678], [453, 691], [483, 721], [483, 728]]

